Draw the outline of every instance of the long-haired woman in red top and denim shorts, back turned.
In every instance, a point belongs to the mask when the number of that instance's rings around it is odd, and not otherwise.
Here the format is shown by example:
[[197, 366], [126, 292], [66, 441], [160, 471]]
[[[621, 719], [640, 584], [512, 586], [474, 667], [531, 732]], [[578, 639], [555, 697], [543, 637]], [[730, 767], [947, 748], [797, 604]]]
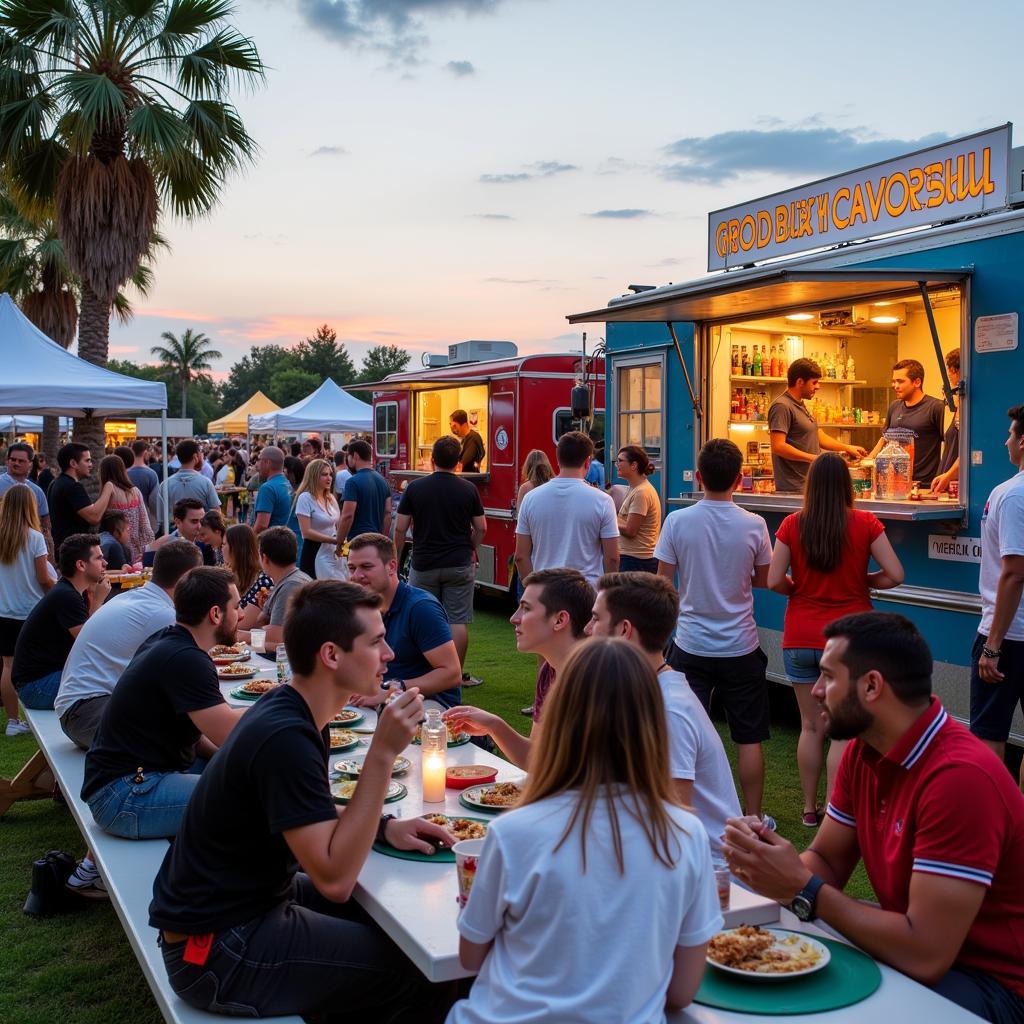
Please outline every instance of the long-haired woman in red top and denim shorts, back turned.
[[[871, 559], [879, 565], [870, 571]], [[819, 455], [804, 483], [804, 508], [786, 516], [775, 535], [768, 587], [788, 597], [782, 626], [782, 660], [800, 708], [797, 766], [804, 791], [803, 822], [821, 821], [824, 723], [811, 686], [820, 675], [829, 623], [856, 611], [870, 611], [870, 589], [887, 590], [903, 582], [903, 566], [870, 512], [853, 507], [853, 482], [846, 460], [836, 452]], [[834, 740], [828, 751], [826, 796], [845, 744]]]

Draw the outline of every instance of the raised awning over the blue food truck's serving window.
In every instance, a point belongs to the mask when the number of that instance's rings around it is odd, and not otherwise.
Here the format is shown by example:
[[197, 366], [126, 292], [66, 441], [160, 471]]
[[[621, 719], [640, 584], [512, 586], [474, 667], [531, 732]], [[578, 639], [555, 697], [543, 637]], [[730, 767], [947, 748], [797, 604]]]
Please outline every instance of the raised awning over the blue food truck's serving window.
[[928, 291], [948, 288], [969, 278], [971, 272], [971, 267], [956, 270], [759, 267], [612, 299], [603, 309], [572, 313], [566, 319], [570, 324], [685, 324], [776, 316], [822, 305], [918, 294], [922, 285]]

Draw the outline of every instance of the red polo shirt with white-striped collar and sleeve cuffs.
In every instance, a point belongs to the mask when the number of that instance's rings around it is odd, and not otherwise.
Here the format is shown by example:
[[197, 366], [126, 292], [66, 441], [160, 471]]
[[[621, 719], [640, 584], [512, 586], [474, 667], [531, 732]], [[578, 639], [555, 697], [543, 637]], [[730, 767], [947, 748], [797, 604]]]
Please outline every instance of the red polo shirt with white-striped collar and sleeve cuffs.
[[1024, 996], [1024, 796], [937, 698], [888, 754], [850, 743], [827, 813], [856, 829], [884, 910], [906, 912], [914, 871], [984, 886], [954, 966]]

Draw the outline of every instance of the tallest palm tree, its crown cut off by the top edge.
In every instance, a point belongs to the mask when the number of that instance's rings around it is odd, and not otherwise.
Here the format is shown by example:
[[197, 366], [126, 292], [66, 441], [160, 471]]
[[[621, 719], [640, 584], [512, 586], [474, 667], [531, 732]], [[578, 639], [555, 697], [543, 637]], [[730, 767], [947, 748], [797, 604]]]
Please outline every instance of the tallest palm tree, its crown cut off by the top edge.
[[[232, 13], [230, 0], [0, 0], [0, 165], [20, 205], [55, 205], [81, 280], [79, 354], [97, 366], [162, 206], [208, 213], [255, 156], [226, 97], [263, 63]], [[101, 450], [102, 421], [76, 436]]]

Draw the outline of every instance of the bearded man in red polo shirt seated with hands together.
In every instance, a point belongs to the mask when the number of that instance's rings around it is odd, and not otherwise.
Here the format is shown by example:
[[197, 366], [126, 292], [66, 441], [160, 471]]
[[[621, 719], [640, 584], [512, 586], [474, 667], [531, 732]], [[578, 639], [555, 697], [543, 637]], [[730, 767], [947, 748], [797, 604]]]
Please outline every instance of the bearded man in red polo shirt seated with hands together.
[[[813, 694], [852, 739], [810, 848], [729, 821], [725, 853], [755, 891], [985, 1020], [1024, 1022], [1024, 796], [932, 696], [932, 655], [902, 615], [824, 630]], [[844, 895], [863, 857], [880, 907]]]

